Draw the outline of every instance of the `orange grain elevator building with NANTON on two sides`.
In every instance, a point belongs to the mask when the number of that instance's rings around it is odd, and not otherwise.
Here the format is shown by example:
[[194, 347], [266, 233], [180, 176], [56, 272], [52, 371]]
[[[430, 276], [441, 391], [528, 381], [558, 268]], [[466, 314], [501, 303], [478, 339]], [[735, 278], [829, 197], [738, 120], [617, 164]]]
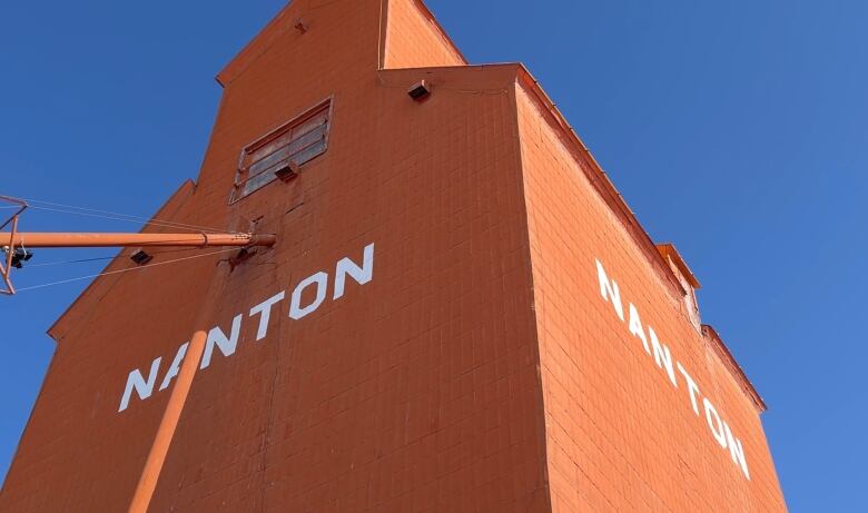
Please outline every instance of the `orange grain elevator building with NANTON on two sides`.
[[522, 65], [417, 0], [294, 0], [217, 79], [155, 219], [277, 244], [95, 280], [0, 511], [127, 511], [196, 329], [148, 511], [786, 511], [697, 278]]

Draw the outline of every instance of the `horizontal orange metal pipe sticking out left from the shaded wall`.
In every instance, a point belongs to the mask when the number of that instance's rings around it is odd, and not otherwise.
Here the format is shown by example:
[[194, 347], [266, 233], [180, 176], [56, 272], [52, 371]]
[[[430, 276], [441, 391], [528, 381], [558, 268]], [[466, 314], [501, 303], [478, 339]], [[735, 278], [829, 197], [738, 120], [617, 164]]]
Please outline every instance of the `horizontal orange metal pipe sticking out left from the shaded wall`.
[[10, 247], [114, 247], [114, 246], [274, 246], [275, 235], [251, 234], [53, 234], [0, 233]]

